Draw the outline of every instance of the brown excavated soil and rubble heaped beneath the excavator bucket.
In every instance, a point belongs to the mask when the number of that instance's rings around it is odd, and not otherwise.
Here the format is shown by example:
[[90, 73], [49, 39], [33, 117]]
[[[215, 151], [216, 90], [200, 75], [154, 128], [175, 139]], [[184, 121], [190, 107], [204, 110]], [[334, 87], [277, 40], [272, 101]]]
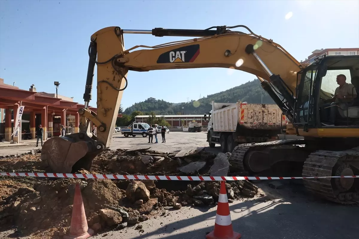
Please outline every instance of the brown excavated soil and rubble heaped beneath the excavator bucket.
[[[0, 158], [0, 172], [49, 172], [41, 151]], [[144, 157], [145, 156], [145, 157]], [[185, 159], [175, 154], [118, 149], [105, 150], [93, 161], [93, 174], [209, 175], [214, 154], [201, 152]], [[192, 173], [179, 167], [206, 162]], [[35, 178], [0, 176], [0, 230], [16, 229], [14, 237], [62, 238], [69, 232], [74, 191], [79, 184], [88, 226], [95, 233], [133, 226], [163, 210], [182, 206], [215, 206], [220, 182], [133, 181], [109, 179]], [[254, 197], [258, 188], [248, 181], [226, 183], [229, 199]]]

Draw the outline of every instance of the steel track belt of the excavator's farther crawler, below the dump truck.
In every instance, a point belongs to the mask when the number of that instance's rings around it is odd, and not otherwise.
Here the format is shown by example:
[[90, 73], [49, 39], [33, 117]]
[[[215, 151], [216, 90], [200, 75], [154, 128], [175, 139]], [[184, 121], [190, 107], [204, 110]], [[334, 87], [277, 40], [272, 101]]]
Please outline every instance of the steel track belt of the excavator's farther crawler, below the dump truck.
[[231, 167], [236, 171], [247, 171], [246, 167], [243, 164], [244, 157], [246, 153], [251, 150], [263, 150], [267, 147], [280, 146], [280, 145], [290, 145], [290, 144], [304, 144], [303, 139], [281, 139], [274, 140], [264, 143], [255, 143], [255, 144], [240, 144], [232, 151], [232, 157], [230, 157]]

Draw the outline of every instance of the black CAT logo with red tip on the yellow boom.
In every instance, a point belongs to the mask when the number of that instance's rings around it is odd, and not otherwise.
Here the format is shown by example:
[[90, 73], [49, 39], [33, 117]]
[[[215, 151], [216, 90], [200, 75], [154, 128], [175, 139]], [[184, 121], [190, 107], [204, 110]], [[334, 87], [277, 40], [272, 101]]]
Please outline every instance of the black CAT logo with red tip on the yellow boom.
[[160, 54], [157, 63], [191, 63], [200, 54], [200, 45], [188, 45]]

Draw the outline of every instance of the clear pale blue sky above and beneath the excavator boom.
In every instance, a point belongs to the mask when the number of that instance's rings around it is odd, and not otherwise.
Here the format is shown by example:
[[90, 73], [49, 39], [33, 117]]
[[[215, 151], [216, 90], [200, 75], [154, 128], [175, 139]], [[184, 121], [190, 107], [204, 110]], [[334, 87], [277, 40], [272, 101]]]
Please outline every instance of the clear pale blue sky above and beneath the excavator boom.
[[[293, 13], [290, 19], [285, 15]], [[97, 30], [205, 29], [247, 25], [299, 61], [314, 49], [359, 47], [359, 1], [0, 1], [0, 77], [20, 89], [74, 97], [83, 104], [90, 36]], [[319, 33], [319, 34], [318, 34]], [[125, 34], [125, 48], [181, 40]], [[132, 72], [122, 105], [148, 97], [185, 102], [227, 90], [255, 76], [224, 68]], [[96, 79], [96, 78], [95, 78]], [[153, 87], [148, 88], [149, 83]], [[95, 88], [95, 87], [94, 87]], [[96, 90], [93, 100], [96, 104]]]

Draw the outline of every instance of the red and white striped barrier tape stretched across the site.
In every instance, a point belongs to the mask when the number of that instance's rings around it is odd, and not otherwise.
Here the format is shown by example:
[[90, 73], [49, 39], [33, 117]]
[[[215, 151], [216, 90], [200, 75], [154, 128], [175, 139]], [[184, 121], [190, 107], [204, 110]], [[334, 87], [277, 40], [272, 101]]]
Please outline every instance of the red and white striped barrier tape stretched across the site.
[[115, 175], [115, 174], [81, 174], [81, 173], [3, 173], [2, 176], [47, 177], [47, 178], [96, 178], [96, 179], [130, 179], [130, 180], [183, 180], [183, 181], [239, 181], [239, 180], [272, 180], [303, 178], [359, 178], [359, 176], [328, 177], [247, 177], [247, 176], [148, 176], [148, 175]]

